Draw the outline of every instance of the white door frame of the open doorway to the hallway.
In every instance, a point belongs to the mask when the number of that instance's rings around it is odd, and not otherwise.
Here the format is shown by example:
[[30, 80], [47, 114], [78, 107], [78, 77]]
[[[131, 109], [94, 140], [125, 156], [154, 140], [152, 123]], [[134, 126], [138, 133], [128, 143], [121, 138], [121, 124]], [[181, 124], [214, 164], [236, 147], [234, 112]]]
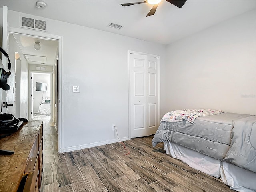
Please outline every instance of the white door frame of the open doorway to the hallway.
[[[58, 147], [59, 147], [59, 152], [62, 153], [63, 152], [63, 146], [64, 146], [64, 142], [63, 142], [63, 130], [62, 130], [62, 124], [63, 124], [63, 120], [62, 120], [62, 95], [64, 95], [63, 93], [63, 89], [62, 89], [62, 62], [63, 62], [63, 36], [59, 36], [59, 35], [54, 35], [54, 34], [48, 34], [48, 33], [44, 33], [44, 32], [39, 32], [36, 30], [26, 30], [26, 29], [21, 29], [21, 28], [14, 28], [14, 27], [10, 27], [9, 28], [9, 33], [12, 34], [22, 34], [22, 35], [27, 35], [27, 36], [33, 36], [33, 37], [38, 37], [38, 38], [45, 38], [45, 39], [54, 39], [54, 40], [58, 40], [59, 42], [59, 67], [58, 67], [58, 96], [59, 96], [59, 108], [58, 108]], [[29, 98], [29, 95], [28, 95]]]

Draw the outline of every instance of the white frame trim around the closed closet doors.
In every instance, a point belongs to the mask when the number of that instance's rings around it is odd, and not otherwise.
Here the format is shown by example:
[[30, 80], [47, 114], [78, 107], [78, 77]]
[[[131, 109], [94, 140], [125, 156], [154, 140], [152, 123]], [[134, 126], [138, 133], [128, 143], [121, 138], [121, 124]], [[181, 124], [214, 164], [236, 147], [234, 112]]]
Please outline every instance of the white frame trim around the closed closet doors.
[[148, 53], [143, 53], [143, 52], [137, 52], [137, 51], [132, 51], [128, 50], [128, 140], [131, 139], [131, 107], [130, 107], [130, 102], [131, 102], [131, 84], [130, 84], [130, 54], [142, 54], [142, 55], [147, 55], [147, 56], [152, 56], [158, 58], [158, 122], [160, 122], [160, 56], [158, 55], [153, 55], [153, 54], [148, 54]]

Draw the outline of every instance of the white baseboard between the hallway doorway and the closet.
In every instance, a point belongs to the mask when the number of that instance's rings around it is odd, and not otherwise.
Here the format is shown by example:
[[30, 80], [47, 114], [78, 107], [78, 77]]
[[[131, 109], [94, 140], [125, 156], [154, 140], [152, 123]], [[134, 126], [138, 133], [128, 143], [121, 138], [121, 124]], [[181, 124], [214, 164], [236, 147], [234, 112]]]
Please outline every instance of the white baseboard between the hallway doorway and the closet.
[[[120, 138], [120, 141], [127, 141], [127, 140], [129, 140], [128, 137]], [[96, 147], [96, 146], [106, 145], [106, 144], [111, 144], [111, 143], [116, 143], [116, 142], [119, 142], [119, 140], [118, 139], [112, 139], [112, 140], [95, 142], [95, 143], [90, 143], [90, 144], [85, 144], [85, 145], [78, 145], [78, 146], [73, 146], [73, 147], [64, 147], [63, 152], [70, 152], [70, 151], [75, 151], [75, 150], [80, 150], [80, 149], [85, 149], [85, 148], [90, 148], [90, 147]]]

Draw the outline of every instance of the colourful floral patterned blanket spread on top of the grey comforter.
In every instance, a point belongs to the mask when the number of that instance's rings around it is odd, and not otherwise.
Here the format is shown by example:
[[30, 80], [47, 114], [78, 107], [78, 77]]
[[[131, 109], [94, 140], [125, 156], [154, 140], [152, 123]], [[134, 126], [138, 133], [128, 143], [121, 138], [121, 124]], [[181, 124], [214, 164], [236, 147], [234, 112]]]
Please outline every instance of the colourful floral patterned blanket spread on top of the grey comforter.
[[193, 123], [197, 117], [217, 115], [220, 113], [224, 113], [224, 111], [212, 109], [183, 109], [166, 113], [161, 121], [178, 122], [186, 120], [190, 123]]

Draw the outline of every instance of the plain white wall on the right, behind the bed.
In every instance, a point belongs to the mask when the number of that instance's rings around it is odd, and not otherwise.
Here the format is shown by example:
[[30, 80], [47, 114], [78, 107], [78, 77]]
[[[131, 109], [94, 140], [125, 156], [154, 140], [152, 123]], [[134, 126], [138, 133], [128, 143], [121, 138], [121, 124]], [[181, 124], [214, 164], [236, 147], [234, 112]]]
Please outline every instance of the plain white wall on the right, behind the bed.
[[256, 114], [255, 10], [166, 47], [163, 111], [211, 108]]

